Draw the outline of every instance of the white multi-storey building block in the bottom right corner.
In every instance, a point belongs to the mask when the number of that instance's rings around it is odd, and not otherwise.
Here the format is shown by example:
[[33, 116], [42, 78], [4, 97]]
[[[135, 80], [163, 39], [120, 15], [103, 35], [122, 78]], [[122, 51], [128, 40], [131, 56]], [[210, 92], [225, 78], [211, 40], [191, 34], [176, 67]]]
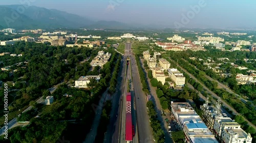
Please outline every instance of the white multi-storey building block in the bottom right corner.
[[214, 122], [214, 134], [221, 142], [225, 143], [251, 143], [250, 133], [246, 133], [241, 125], [227, 117], [216, 117]]

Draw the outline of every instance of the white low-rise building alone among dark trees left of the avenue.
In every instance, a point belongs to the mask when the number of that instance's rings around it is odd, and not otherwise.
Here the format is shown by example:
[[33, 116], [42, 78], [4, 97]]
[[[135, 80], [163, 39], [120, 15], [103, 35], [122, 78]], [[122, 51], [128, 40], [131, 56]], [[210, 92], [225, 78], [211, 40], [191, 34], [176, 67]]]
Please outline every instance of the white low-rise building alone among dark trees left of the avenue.
[[74, 87], [75, 88], [88, 88], [90, 79], [95, 79], [98, 82], [100, 80], [100, 75], [81, 76], [79, 79], [77, 79], [75, 81]]

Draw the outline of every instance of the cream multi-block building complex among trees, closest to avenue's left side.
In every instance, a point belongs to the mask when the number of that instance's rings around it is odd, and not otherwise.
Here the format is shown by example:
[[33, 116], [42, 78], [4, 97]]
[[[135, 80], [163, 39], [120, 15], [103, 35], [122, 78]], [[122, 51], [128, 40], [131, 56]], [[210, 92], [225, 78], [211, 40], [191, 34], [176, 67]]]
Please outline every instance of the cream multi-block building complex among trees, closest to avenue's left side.
[[98, 55], [92, 60], [90, 65], [92, 67], [96, 67], [96, 66], [103, 67], [103, 65], [109, 61], [110, 57], [111, 57], [111, 53], [109, 52], [105, 53], [104, 51], [99, 51]]

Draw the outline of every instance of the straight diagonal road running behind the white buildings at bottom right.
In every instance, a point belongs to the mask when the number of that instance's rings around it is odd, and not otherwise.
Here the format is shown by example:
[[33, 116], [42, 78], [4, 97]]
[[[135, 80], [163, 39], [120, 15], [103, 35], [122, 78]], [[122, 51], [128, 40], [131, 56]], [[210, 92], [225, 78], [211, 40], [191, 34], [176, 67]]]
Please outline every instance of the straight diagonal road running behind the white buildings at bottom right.
[[[171, 60], [171, 61], [173, 61], [174, 63], [176, 63], [174, 60], [172, 60], [172, 59], [170, 59], [170, 58], [168, 58], [169, 60]], [[181, 70], [183, 70], [185, 73], [187, 73], [191, 78], [193, 78], [194, 80], [196, 80], [196, 82], [198, 82], [198, 83], [201, 83], [201, 85], [203, 86], [203, 88], [208, 92], [208, 93], [210, 93], [212, 96], [214, 96], [215, 98], [219, 98], [219, 96], [218, 95], [216, 95], [214, 92], [212, 92], [211, 90], [209, 90], [201, 81], [198, 81], [198, 79], [194, 76], [194, 75], [192, 75], [192, 74], [190, 74], [187, 70], [185, 70], [184, 68], [182, 68], [178, 63], [176, 63], [177, 64], [177, 66], [181, 69]], [[244, 116], [242, 116], [240, 113], [238, 113], [233, 107], [231, 107], [229, 104], [227, 104], [225, 101], [222, 101], [222, 104], [225, 106], [225, 107], [227, 107], [227, 108], [229, 108], [232, 112], [233, 112], [233, 114], [234, 115], [240, 115], [241, 117], [243, 117], [243, 119], [250, 125], [250, 126], [252, 126], [254, 129], [256, 129], [256, 126], [255, 125], [253, 125], [251, 122], [249, 122], [246, 118], [244, 118]]]

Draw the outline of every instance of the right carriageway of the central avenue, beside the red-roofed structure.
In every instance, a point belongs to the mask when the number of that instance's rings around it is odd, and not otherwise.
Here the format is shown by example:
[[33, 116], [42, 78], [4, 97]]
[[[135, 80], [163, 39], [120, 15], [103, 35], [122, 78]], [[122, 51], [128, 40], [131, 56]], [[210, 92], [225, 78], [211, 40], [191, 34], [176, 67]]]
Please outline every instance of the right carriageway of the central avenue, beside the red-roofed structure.
[[[132, 47], [132, 43], [126, 43], [125, 46]], [[142, 91], [142, 84], [140, 81], [139, 70], [135, 61], [135, 56], [130, 56], [130, 63], [132, 66], [132, 86], [134, 87], [134, 96], [136, 103], [136, 113], [137, 113], [137, 130], [139, 135], [139, 142], [153, 143], [153, 133], [150, 126], [150, 118], [147, 115], [146, 110], [146, 98], [145, 93]]]

